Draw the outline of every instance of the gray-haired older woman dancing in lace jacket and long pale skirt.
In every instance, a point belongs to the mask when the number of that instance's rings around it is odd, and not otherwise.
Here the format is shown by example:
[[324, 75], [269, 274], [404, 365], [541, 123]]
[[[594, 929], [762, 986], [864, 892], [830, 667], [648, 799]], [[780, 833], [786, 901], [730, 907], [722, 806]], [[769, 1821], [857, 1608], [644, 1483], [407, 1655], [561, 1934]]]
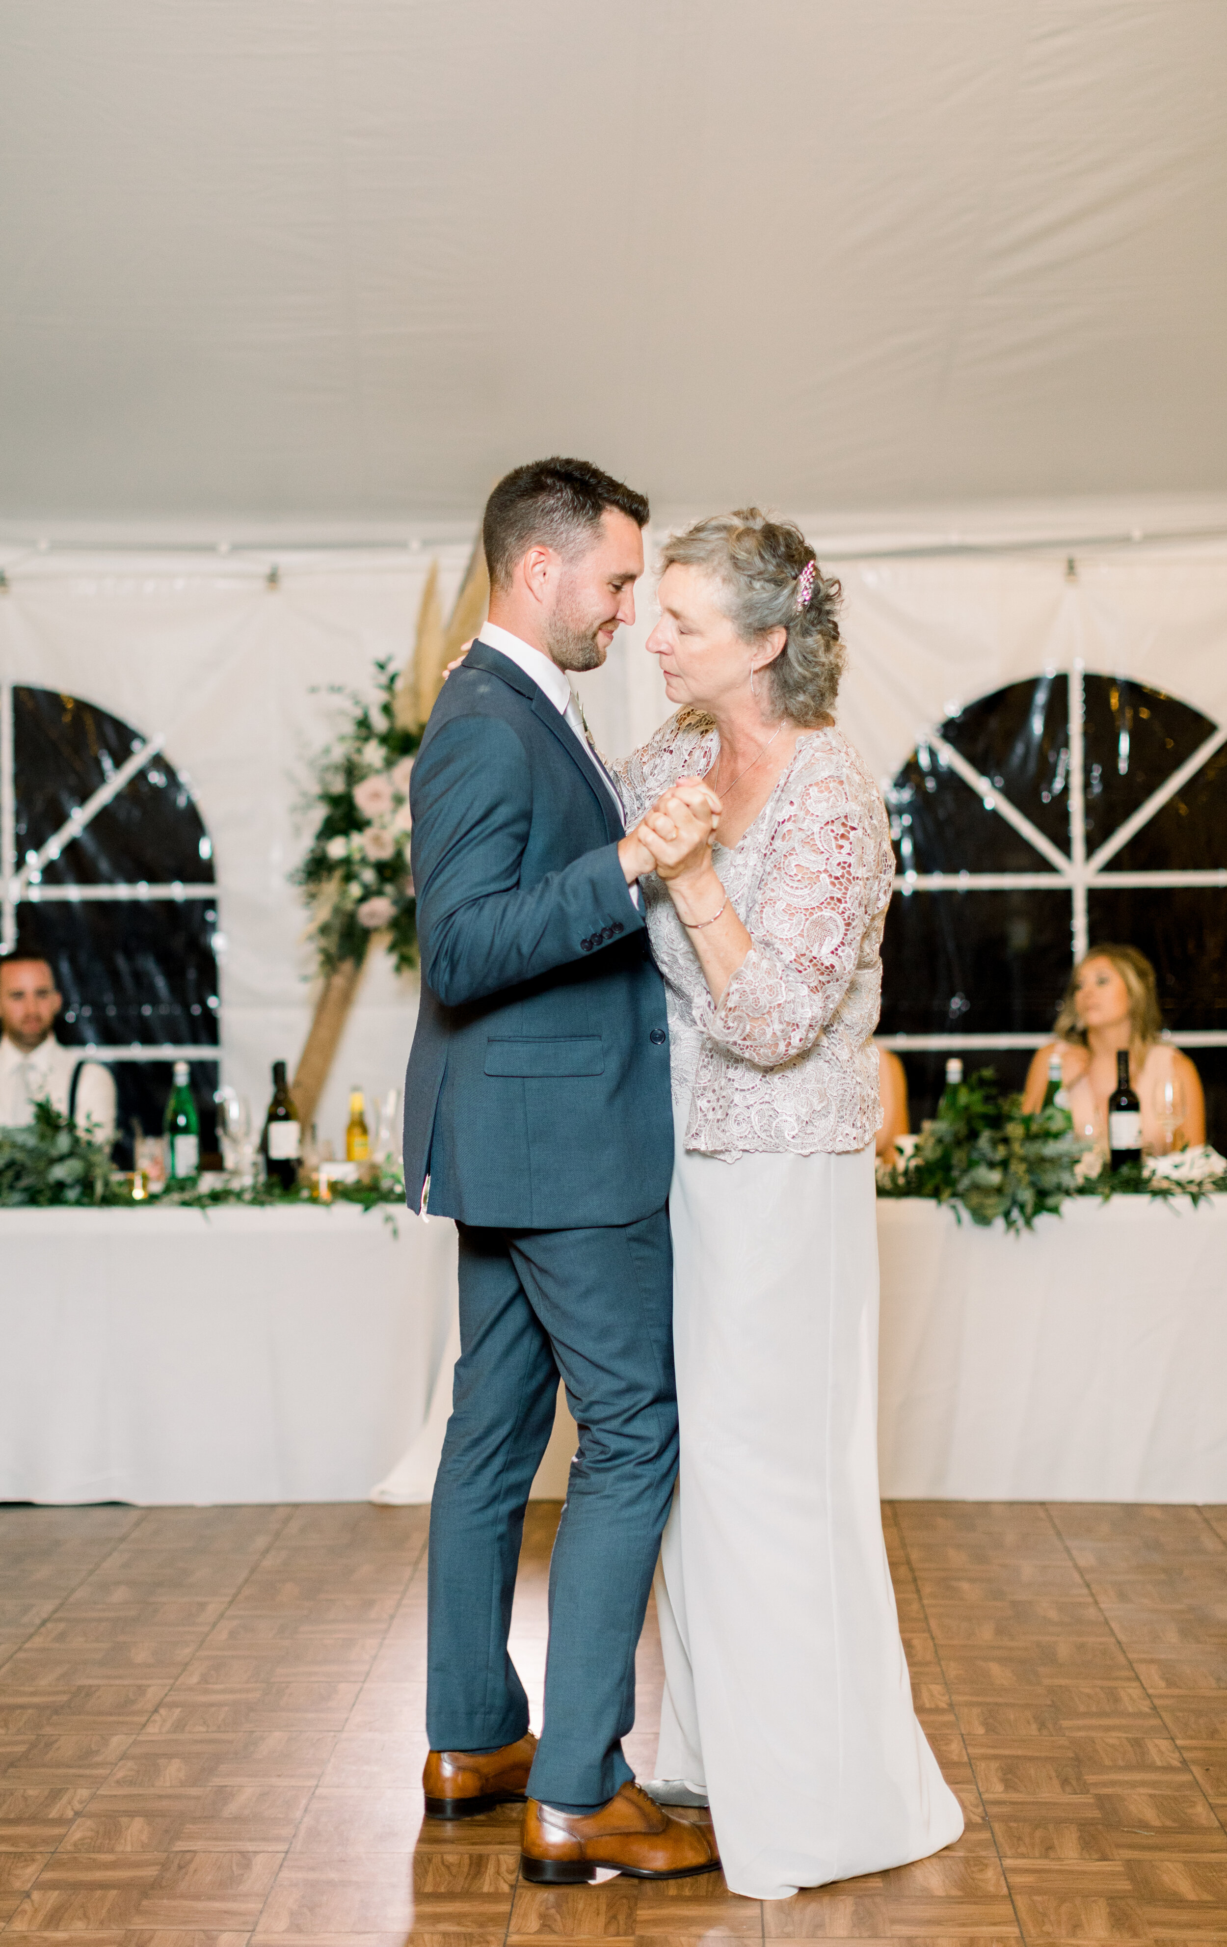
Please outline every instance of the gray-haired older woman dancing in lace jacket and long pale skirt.
[[[668, 987], [682, 1472], [656, 1795], [783, 1898], [948, 1846], [876, 1468], [880, 792], [832, 705], [837, 582], [746, 508], [664, 549], [676, 715], [619, 767]], [[697, 783], [701, 781], [701, 783]]]

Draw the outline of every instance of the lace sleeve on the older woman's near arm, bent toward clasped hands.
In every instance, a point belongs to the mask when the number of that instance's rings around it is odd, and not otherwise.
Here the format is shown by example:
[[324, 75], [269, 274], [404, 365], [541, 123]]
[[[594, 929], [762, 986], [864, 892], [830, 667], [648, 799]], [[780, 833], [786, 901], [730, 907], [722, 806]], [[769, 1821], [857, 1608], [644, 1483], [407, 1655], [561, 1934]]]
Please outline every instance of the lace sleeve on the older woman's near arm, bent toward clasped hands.
[[695, 1005], [703, 1032], [754, 1067], [812, 1047], [876, 958], [894, 855], [876, 792], [855, 787], [836, 771], [797, 792], [767, 839], [750, 952], [719, 1007]]

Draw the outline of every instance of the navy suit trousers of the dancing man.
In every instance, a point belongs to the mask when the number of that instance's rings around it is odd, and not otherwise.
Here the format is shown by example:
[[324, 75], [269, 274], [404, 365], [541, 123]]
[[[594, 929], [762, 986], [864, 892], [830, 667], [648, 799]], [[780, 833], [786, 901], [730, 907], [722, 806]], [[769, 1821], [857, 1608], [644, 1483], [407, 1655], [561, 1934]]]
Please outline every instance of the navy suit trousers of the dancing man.
[[633, 1776], [621, 1739], [635, 1721], [635, 1645], [678, 1472], [668, 1215], [458, 1229], [462, 1357], [430, 1505], [430, 1748], [495, 1750], [528, 1731], [506, 1637], [561, 1373], [578, 1452], [549, 1565], [528, 1791], [596, 1807]]

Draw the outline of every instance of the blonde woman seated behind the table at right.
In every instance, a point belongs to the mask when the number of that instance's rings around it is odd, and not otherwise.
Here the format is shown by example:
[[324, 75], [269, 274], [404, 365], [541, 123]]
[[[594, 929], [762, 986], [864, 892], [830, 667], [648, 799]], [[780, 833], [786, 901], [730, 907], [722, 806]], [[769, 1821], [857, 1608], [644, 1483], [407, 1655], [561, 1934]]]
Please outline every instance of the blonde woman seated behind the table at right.
[[1116, 1051], [1130, 1049], [1130, 1086], [1141, 1104], [1141, 1147], [1167, 1155], [1206, 1141], [1206, 1098], [1196, 1067], [1161, 1040], [1155, 970], [1135, 946], [1093, 946], [1073, 970], [1056, 1042], [1040, 1047], [1026, 1073], [1024, 1110], [1038, 1110], [1048, 1061], [1061, 1057], [1061, 1081], [1077, 1135], [1108, 1151], [1108, 1096]]

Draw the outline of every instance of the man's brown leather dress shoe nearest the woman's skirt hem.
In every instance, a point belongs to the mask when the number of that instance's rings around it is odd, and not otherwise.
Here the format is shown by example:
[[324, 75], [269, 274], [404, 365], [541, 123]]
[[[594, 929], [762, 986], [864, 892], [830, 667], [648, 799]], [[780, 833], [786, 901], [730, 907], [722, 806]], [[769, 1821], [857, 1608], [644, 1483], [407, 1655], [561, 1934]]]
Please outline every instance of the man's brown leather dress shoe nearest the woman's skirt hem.
[[670, 1818], [639, 1785], [623, 1785], [596, 1813], [559, 1813], [530, 1799], [520, 1848], [524, 1879], [536, 1887], [578, 1887], [602, 1867], [633, 1879], [721, 1869], [711, 1826]]

